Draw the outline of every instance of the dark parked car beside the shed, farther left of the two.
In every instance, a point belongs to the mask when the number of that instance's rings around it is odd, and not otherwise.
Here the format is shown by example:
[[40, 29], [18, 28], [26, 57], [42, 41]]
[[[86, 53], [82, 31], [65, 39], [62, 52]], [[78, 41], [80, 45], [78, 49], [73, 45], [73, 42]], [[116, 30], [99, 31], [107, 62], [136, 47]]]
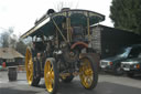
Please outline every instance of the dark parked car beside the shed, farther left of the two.
[[121, 75], [123, 74], [123, 70], [120, 67], [121, 62], [126, 61], [127, 59], [138, 58], [139, 53], [141, 53], [141, 44], [121, 49], [117, 55], [101, 60], [100, 67], [104, 71], [111, 71], [116, 75]]

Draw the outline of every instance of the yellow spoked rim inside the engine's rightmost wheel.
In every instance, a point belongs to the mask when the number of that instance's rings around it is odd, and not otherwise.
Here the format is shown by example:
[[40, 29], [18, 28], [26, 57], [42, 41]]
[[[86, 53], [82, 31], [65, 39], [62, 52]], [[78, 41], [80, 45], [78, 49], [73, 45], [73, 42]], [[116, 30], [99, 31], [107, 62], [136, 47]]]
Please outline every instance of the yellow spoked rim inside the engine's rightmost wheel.
[[79, 69], [82, 84], [89, 88], [94, 82], [94, 71], [88, 59], [83, 60], [83, 65]]

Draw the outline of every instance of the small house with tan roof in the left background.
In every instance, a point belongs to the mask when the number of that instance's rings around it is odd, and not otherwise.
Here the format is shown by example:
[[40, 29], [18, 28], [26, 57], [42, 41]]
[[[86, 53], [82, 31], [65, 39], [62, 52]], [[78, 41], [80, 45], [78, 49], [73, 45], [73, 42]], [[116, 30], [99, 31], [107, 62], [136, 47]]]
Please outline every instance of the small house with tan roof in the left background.
[[7, 66], [23, 64], [24, 56], [12, 48], [0, 48], [0, 65], [6, 62]]

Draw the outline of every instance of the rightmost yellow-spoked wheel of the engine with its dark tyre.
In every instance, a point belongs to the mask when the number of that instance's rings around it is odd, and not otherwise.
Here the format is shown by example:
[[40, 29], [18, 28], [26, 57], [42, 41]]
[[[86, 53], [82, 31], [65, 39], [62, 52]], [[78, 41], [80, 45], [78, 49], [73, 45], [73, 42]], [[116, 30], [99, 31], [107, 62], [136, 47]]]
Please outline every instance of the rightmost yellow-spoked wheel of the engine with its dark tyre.
[[80, 60], [79, 77], [83, 86], [87, 90], [94, 88], [98, 81], [97, 62], [93, 60], [91, 56], [84, 56]]

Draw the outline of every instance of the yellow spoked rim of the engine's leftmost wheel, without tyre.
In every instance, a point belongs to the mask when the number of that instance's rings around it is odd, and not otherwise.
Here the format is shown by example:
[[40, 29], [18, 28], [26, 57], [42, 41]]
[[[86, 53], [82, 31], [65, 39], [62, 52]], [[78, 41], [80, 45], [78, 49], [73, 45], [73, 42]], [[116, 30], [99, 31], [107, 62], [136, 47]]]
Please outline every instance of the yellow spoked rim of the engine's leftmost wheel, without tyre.
[[25, 69], [26, 69], [26, 80], [28, 83], [31, 85], [33, 80], [33, 61], [32, 61], [32, 54], [30, 50], [26, 50], [25, 54]]

